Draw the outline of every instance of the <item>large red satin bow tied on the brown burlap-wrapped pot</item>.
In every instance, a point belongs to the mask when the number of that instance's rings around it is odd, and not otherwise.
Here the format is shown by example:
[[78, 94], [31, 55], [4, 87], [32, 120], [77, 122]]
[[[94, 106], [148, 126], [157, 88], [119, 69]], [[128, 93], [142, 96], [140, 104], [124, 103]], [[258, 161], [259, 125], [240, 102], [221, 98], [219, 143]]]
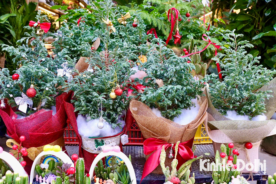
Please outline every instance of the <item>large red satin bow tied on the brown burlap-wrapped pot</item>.
[[[162, 146], [164, 145], [165, 150], [167, 150], [172, 146], [171, 143], [167, 143], [166, 141], [162, 141], [156, 138], [146, 139], [143, 144], [144, 144], [144, 154], [145, 155], [151, 154], [151, 156], [145, 162], [141, 181], [160, 164], [160, 154], [161, 154]], [[189, 141], [180, 143], [178, 145], [178, 154], [176, 156], [178, 160], [177, 168], [179, 168], [187, 160], [190, 160], [193, 158], [193, 151], [191, 150], [192, 146], [193, 146], [193, 138]], [[173, 150], [174, 149], [175, 149], [175, 146], [173, 146]]]

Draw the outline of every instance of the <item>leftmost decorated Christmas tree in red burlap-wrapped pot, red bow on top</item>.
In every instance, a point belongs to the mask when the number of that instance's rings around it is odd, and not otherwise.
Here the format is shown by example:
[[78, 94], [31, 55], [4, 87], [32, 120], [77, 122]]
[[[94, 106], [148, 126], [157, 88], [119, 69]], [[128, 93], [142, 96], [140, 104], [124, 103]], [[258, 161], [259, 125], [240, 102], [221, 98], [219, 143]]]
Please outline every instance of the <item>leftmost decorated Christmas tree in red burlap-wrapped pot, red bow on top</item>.
[[63, 133], [67, 125], [66, 112], [63, 97], [58, 95], [63, 93], [61, 86], [65, 80], [70, 81], [72, 77], [67, 67], [70, 57], [66, 49], [54, 58], [48, 55], [43, 40], [55, 35], [48, 32], [50, 23], [44, 22], [46, 16], [40, 16], [40, 13], [38, 11], [37, 22], [31, 20], [25, 27], [31, 33], [26, 33], [26, 37], [18, 41], [24, 41], [26, 45], [15, 48], [1, 44], [3, 50], [14, 57], [17, 69], [12, 76], [7, 68], [0, 71], [0, 115], [8, 135], [17, 145], [20, 136], [25, 136], [22, 146], [28, 152], [23, 155], [28, 173], [32, 161], [42, 152], [44, 145], [60, 145], [65, 150]]

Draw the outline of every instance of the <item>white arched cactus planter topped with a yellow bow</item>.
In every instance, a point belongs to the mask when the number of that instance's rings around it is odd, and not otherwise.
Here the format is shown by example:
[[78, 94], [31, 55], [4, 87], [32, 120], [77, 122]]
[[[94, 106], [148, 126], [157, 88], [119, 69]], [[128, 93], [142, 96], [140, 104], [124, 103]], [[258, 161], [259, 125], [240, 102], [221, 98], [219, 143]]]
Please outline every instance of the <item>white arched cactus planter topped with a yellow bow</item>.
[[[45, 145], [34, 160], [31, 168], [30, 181], [39, 183], [73, 183], [76, 169], [69, 156], [59, 145]], [[60, 183], [61, 184], [61, 183]]]

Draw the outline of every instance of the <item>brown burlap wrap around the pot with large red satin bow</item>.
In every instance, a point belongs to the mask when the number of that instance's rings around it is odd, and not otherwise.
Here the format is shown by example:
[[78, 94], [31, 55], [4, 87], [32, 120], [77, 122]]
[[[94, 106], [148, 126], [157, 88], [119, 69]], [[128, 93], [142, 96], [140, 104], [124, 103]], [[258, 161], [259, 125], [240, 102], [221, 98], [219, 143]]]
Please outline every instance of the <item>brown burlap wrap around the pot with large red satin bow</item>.
[[[156, 138], [168, 143], [177, 143], [177, 141], [185, 142], [193, 139], [198, 126], [204, 120], [207, 122], [207, 98], [200, 98], [198, 103], [200, 105], [198, 115], [192, 122], [186, 125], [180, 125], [166, 118], [156, 116], [147, 105], [137, 100], [132, 100], [129, 108], [146, 139]], [[169, 154], [169, 150], [170, 149], [166, 150], [167, 155]], [[149, 156], [150, 155], [146, 155], [146, 159]], [[173, 159], [166, 158], [165, 166], [171, 167], [172, 160]], [[163, 174], [160, 165], [153, 173]]]

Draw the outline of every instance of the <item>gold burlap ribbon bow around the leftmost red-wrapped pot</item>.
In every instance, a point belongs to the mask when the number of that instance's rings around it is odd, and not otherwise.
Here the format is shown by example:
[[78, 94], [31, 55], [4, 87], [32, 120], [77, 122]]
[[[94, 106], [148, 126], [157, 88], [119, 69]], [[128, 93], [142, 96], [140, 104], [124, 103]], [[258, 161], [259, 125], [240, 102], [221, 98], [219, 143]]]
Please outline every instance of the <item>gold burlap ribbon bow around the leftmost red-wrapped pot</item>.
[[[16, 142], [14, 139], [8, 139], [6, 141], [6, 145], [7, 147], [10, 147], [12, 148], [12, 145], [11, 143], [13, 143], [13, 145], [18, 145], [19, 147], [19, 144], [18, 142]], [[64, 137], [60, 137], [59, 139], [53, 141], [52, 143], [50, 143], [49, 145], [59, 145], [60, 147], [63, 147], [64, 146]], [[41, 152], [43, 152], [43, 146], [39, 146], [39, 147], [30, 147], [27, 149], [27, 152], [28, 152], [28, 157], [31, 159], [31, 160], [34, 160]], [[18, 155], [18, 151], [17, 150], [9, 150], [9, 153], [13, 154], [14, 157], [17, 157]]]

